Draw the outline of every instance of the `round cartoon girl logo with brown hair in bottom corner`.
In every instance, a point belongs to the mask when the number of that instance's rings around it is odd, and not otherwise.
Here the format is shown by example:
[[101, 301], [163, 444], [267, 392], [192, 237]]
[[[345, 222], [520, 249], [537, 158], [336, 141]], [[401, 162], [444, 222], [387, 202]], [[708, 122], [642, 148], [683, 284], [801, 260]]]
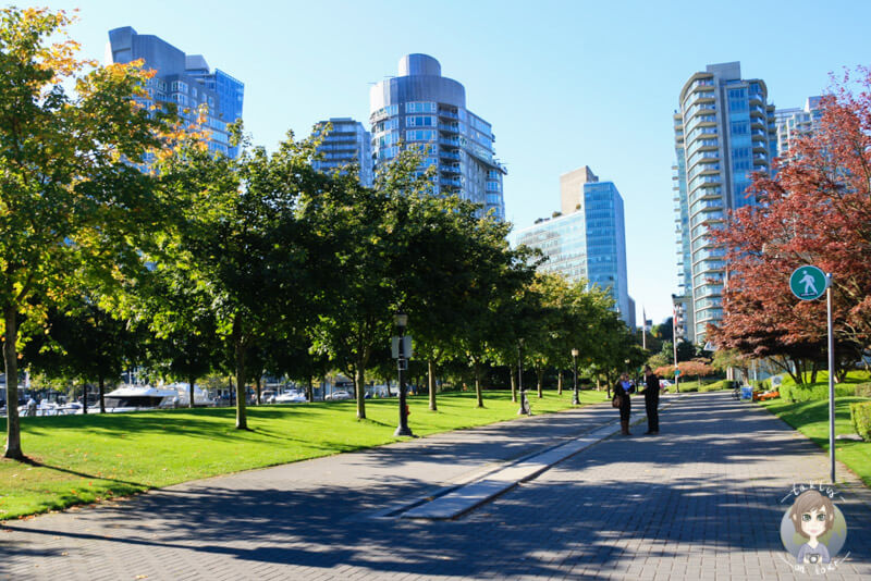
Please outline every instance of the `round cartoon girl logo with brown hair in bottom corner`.
[[829, 564], [847, 540], [847, 523], [827, 496], [808, 490], [784, 514], [781, 540], [797, 565]]

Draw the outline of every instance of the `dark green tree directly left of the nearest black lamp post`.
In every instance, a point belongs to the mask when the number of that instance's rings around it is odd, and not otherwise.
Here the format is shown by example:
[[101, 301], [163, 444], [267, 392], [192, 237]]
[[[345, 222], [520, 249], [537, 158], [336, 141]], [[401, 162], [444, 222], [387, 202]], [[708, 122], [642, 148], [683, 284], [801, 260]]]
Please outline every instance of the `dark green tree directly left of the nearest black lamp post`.
[[[366, 418], [366, 369], [373, 354], [390, 344], [393, 316], [406, 309], [400, 276], [408, 263], [417, 211], [428, 200], [429, 182], [418, 177], [420, 158], [402, 152], [363, 187], [353, 176], [335, 176], [341, 187], [321, 191], [312, 205], [312, 231], [323, 232], [324, 254], [336, 257], [332, 283], [323, 289], [315, 349], [354, 380], [357, 418]], [[415, 322], [409, 321], [409, 332]]]

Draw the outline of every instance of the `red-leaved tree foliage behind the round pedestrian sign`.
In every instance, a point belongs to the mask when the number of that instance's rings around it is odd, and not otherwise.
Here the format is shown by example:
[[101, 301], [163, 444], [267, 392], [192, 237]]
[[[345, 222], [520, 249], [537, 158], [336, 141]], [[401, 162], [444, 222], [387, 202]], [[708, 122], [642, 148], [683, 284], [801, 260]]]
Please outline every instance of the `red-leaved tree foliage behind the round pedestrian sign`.
[[819, 129], [777, 162], [774, 177], [757, 175], [760, 200], [732, 214], [715, 239], [726, 248], [729, 279], [721, 347], [756, 357], [825, 358], [825, 300], [789, 290], [802, 264], [833, 273], [835, 332], [844, 358], [871, 345], [871, 73], [861, 90], [850, 79], [823, 98]]

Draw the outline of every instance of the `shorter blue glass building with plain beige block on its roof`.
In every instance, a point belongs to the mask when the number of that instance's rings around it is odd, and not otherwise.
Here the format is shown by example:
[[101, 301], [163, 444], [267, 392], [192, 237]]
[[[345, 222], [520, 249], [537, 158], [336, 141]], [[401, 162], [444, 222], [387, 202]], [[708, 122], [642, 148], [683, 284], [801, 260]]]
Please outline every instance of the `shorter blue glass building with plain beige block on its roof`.
[[587, 166], [560, 176], [560, 197], [562, 206], [568, 203], [572, 212], [536, 220], [532, 226], [517, 232], [516, 243], [544, 254], [548, 260], [538, 268], [540, 272], [608, 289], [621, 318], [634, 329], [623, 197], [613, 182], [599, 182]]

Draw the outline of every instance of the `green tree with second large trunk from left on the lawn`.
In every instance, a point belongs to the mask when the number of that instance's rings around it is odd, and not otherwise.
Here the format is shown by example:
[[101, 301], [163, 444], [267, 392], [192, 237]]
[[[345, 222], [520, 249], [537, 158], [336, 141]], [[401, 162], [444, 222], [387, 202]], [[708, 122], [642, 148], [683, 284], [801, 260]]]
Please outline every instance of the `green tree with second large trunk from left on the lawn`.
[[[235, 127], [236, 139], [241, 131]], [[262, 369], [255, 364], [258, 348], [304, 325], [310, 312], [312, 273], [323, 265], [310, 252], [308, 238], [315, 236], [305, 212], [312, 193], [332, 182], [308, 163], [312, 141], [297, 143], [289, 134], [271, 154], [243, 146], [237, 159], [229, 159], [193, 139], [160, 165], [162, 187], [184, 213], [152, 260], [158, 272], [185, 274], [172, 287], [176, 297], [197, 297], [187, 316], [179, 300], [169, 301], [159, 311], [165, 326], [187, 325], [196, 335], [191, 321], [207, 312], [214, 317], [226, 357], [222, 367], [235, 375], [236, 429], [247, 430], [247, 380], [253, 367]]]

